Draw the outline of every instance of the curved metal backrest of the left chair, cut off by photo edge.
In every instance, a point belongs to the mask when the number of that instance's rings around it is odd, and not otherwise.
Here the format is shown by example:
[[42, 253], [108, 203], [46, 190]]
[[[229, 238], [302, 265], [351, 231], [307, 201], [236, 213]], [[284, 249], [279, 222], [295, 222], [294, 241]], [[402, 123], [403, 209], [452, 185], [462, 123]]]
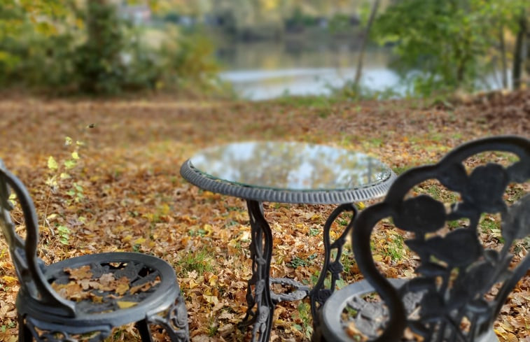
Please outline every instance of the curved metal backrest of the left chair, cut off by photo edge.
[[[10, 199], [12, 190], [16, 197]], [[11, 220], [13, 204], [18, 201], [24, 215], [26, 236], [22, 238], [15, 232], [15, 225]], [[18, 280], [20, 291], [26, 298], [35, 301], [35, 304], [43, 304], [53, 308], [57, 315], [75, 315], [75, 304], [60, 297], [46, 281], [43, 276], [44, 264], [36, 255], [37, 243], [39, 242], [39, 225], [35, 208], [26, 187], [9, 172], [4, 162], [0, 159], [0, 228], [9, 246], [9, 253]]]

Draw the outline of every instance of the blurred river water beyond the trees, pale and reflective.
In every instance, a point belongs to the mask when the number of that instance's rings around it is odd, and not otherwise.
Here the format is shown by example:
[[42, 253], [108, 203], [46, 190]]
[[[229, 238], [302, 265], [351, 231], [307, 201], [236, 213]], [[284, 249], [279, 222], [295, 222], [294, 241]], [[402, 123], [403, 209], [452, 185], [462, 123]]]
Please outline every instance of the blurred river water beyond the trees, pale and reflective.
[[[358, 49], [348, 42], [236, 42], [218, 46], [216, 56], [223, 64], [221, 79], [230, 82], [240, 97], [263, 100], [286, 94], [330, 94], [354, 79]], [[361, 85], [403, 93], [389, 59], [389, 49], [368, 49]]]

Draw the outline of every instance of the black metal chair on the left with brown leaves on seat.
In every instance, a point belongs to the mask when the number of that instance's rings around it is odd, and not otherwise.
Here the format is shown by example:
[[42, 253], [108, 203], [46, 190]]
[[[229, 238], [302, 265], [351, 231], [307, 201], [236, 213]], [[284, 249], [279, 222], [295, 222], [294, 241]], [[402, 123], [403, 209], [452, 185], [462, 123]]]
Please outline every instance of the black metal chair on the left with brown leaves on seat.
[[[10, 190], [22, 208], [26, 236], [15, 232]], [[0, 160], [0, 227], [20, 290], [16, 300], [19, 341], [101, 341], [113, 327], [134, 322], [142, 341], [150, 325], [169, 338], [189, 341], [188, 313], [174, 269], [134, 252], [83, 255], [46, 266], [36, 255], [39, 226], [29, 193]]]

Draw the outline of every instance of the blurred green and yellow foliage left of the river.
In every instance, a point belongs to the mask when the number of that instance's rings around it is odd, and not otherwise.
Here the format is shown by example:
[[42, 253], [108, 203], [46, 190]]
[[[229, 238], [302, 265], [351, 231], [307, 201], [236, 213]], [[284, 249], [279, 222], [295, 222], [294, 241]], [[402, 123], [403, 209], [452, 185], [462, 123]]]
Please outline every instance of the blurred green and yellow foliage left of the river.
[[185, 36], [168, 24], [153, 44], [108, 0], [27, 3], [0, 7], [0, 87], [60, 94], [221, 88], [212, 44], [200, 33]]

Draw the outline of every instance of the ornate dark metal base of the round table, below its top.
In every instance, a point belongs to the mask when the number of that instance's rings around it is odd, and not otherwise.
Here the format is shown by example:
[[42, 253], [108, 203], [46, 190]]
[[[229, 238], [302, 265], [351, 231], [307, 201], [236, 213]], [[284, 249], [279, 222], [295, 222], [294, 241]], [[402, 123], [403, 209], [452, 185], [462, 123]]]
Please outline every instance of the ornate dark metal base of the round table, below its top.
[[[309, 296], [311, 298], [313, 319], [318, 320], [316, 311], [330, 297], [333, 290], [335, 290], [335, 283], [340, 279], [340, 273], [343, 270], [340, 257], [346, 242], [346, 236], [351, 229], [353, 218], [342, 231], [340, 237], [333, 243], [330, 242], [331, 225], [341, 213], [351, 211], [353, 215], [356, 215], [357, 211], [353, 204], [342, 204], [329, 216], [323, 227], [324, 260], [322, 270], [316, 285], [310, 289], [310, 287], [290, 278], [270, 278], [272, 230], [263, 215], [261, 202], [247, 200], [246, 206], [249, 208], [251, 225], [252, 278], [249, 280], [249, 285], [246, 289], [246, 302], [249, 308], [239, 327], [246, 328], [249, 325], [253, 325], [251, 341], [265, 342], [270, 339], [274, 306], [280, 301], [295, 301]], [[335, 259], [330, 262], [333, 250], [336, 250]], [[324, 281], [328, 273], [331, 275], [331, 282], [330, 287], [326, 288]], [[272, 284], [284, 285], [294, 290], [277, 294], [271, 290]]]

